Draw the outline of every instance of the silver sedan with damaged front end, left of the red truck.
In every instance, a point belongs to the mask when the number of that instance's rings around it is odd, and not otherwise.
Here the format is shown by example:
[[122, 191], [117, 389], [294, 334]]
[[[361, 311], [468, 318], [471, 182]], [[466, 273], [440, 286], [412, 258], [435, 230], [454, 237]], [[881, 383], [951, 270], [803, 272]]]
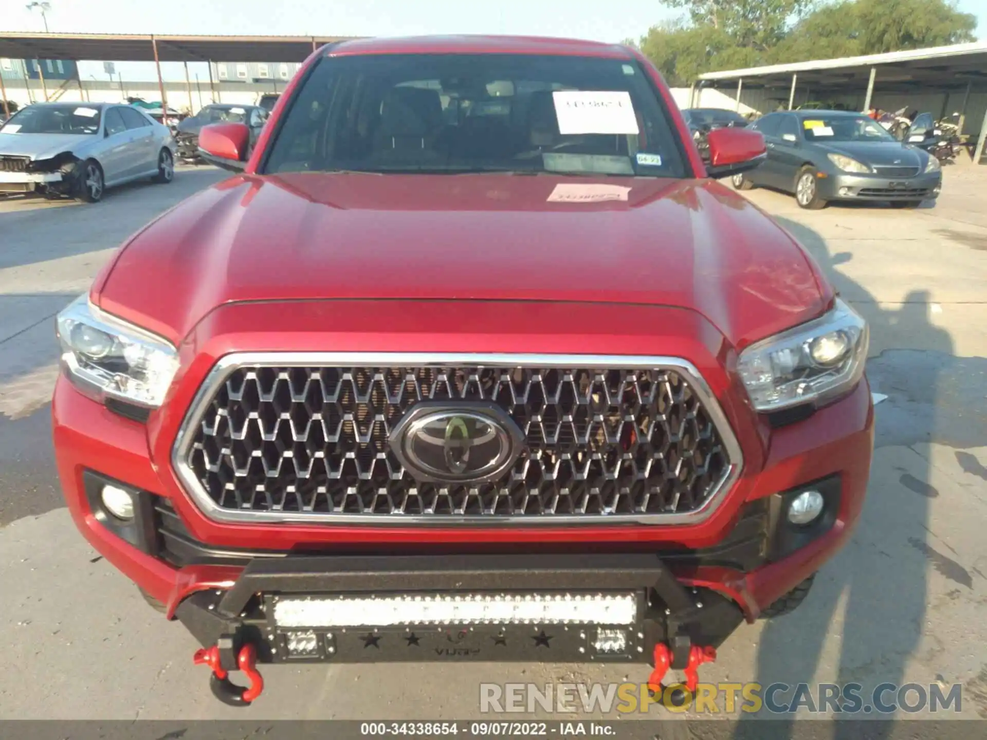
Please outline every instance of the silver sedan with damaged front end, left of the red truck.
[[137, 108], [37, 103], [0, 126], [0, 192], [94, 203], [114, 185], [174, 177], [172, 132]]

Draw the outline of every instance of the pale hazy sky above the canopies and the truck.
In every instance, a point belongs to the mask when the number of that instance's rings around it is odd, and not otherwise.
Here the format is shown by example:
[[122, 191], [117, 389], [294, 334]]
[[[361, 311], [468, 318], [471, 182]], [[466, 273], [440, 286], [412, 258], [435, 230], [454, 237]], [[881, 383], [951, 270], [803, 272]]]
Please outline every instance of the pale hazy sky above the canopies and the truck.
[[[29, 0], [0, 0], [0, 31], [42, 32]], [[51, 33], [284, 36], [517, 34], [621, 41], [675, 17], [659, 0], [49, 0]], [[987, 32], [987, 0], [959, 0]], [[201, 69], [198, 67], [201, 66]], [[124, 79], [155, 79], [149, 63], [117, 64]], [[204, 65], [192, 74], [207, 76]], [[184, 80], [181, 64], [162, 64], [166, 79]], [[105, 80], [100, 64], [84, 79]]]

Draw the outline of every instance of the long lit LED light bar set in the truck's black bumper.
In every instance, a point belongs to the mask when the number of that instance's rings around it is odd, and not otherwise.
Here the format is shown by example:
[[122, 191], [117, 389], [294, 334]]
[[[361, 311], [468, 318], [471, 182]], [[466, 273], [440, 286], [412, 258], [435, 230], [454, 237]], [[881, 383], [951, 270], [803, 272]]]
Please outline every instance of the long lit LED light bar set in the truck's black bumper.
[[638, 603], [625, 594], [279, 598], [283, 628], [403, 625], [633, 625]]

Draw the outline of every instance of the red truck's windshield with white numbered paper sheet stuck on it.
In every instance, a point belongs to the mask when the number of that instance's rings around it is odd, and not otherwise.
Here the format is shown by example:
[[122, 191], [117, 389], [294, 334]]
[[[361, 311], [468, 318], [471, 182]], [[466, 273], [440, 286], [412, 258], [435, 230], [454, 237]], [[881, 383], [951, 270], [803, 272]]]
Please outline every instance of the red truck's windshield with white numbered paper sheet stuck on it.
[[323, 58], [263, 171], [682, 178], [667, 111], [633, 61], [516, 54]]

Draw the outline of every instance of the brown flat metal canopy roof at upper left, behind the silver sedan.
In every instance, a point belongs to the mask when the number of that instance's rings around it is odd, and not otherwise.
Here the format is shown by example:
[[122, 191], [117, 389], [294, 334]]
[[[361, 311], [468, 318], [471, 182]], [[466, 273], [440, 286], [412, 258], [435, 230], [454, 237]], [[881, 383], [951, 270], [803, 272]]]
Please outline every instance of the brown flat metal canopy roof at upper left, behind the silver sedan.
[[326, 36], [149, 36], [131, 34], [0, 33], [0, 57], [154, 61], [299, 62], [323, 44], [347, 37]]

